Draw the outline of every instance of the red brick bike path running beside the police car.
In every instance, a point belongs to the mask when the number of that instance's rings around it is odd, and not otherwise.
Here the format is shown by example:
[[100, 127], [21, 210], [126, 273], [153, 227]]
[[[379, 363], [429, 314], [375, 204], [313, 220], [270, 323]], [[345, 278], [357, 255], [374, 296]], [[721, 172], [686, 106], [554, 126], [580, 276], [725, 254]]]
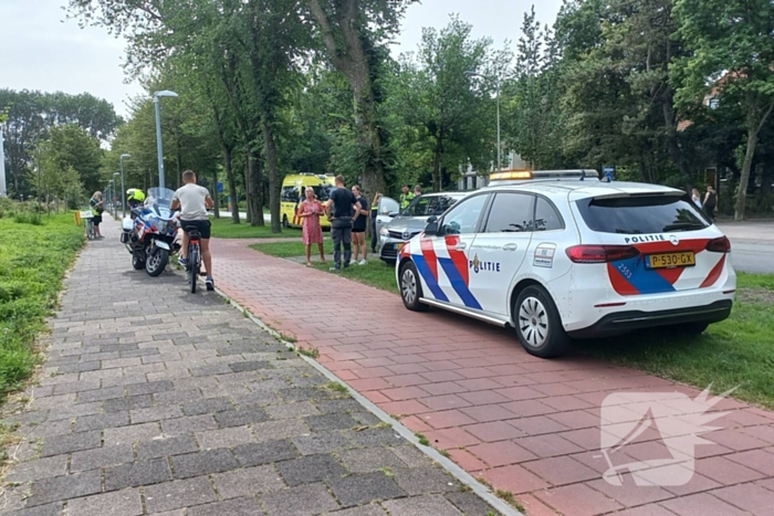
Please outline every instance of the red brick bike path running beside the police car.
[[[704, 434], [712, 444], [697, 446], [687, 485], [636, 486], [624, 475], [615, 487], [602, 478], [605, 397], [694, 398], [699, 390], [583, 355], [534, 358], [512, 330], [439, 310], [411, 313], [397, 295], [248, 243], [212, 243], [216, 281], [227, 295], [300, 346], [317, 348], [321, 364], [468, 472], [515, 494], [530, 516], [774, 514], [774, 412], [723, 400], [713, 410], [729, 413]], [[621, 409], [616, 418], [606, 429], [641, 413]], [[616, 456], [625, 464], [671, 455], [650, 429]]]

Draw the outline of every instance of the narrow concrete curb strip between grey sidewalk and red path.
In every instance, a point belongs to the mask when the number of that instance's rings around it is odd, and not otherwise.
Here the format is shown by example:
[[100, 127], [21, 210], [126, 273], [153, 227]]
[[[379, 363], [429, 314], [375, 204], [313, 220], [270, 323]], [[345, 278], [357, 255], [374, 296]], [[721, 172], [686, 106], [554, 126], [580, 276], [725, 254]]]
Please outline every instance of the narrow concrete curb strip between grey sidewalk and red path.
[[[247, 315], [247, 317], [252, 320], [255, 325], [261, 327], [264, 331], [269, 333], [271, 336], [283, 343], [285, 346], [287, 346], [289, 349], [291, 350], [296, 350], [295, 345], [284, 340], [282, 338], [282, 335], [280, 335], [278, 331], [275, 331], [273, 328], [269, 327], [266, 324], [264, 324], [260, 318], [255, 317], [249, 309], [247, 309], [244, 306], [240, 305], [236, 301], [233, 301], [230, 296], [228, 296], [223, 291], [218, 288], [216, 286], [215, 292], [223, 297], [229, 305], [232, 307], [239, 309], [242, 312], [242, 314]], [[449, 473], [451, 476], [457, 478], [462, 485], [466, 485], [471, 488], [473, 493], [475, 493], [479, 497], [481, 497], [484, 502], [487, 502], [489, 505], [491, 505], [495, 510], [499, 510], [500, 514], [503, 516], [525, 516], [523, 513], [516, 510], [514, 507], [511, 505], [506, 504], [504, 501], [498, 498], [494, 493], [492, 493], [491, 489], [487, 488], [483, 484], [481, 484], [479, 481], [473, 477], [470, 473], [458, 466], [453, 461], [450, 459], [444, 457], [441, 455], [438, 450], [436, 450], [432, 446], [425, 446], [419, 443], [419, 439], [411, 432], [408, 428], [402, 425], [400, 421], [397, 421], [393, 419], [387, 412], [381, 410], [379, 407], [377, 407], [374, 402], [372, 402], [369, 399], [357, 392], [355, 389], [349, 387], [347, 382], [338, 378], [336, 375], [334, 375], [332, 371], [330, 371], [325, 366], [320, 364], [318, 361], [299, 354], [299, 357], [301, 357], [302, 360], [305, 360], [308, 365], [311, 365], [313, 368], [315, 368], [317, 371], [320, 371], [323, 376], [325, 376], [327, 379], [331, 381], [336, 381], [338, 383], [342, 383], [347, 388], [347, 391], [349, 394], [360, 403], [363, 407], [365, 407], [368, 411], [370, 411], [374, 415], [379, 418], [384, 423], [389, 424], [401, 438], [404, 438], [406, 441], [410, 442], [414, 444], [416, 449], [425, 453], [428, 457], [430, 457], [432, 461], [435, 461], [437, 464], [441, 466], [447, 473]]]

